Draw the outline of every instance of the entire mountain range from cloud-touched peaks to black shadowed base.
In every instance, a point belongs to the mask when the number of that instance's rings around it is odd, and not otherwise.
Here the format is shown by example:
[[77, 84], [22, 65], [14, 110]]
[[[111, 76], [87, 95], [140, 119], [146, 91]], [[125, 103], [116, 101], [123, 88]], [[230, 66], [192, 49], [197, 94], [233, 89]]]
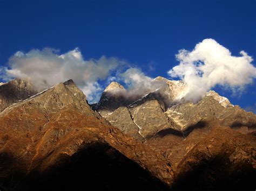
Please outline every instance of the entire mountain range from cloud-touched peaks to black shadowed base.
[[256, 115], [154, 81], [143, 94], [111, 82], [91, 105], [72, 80], [0, 83], [0, 189], [254, 190]]

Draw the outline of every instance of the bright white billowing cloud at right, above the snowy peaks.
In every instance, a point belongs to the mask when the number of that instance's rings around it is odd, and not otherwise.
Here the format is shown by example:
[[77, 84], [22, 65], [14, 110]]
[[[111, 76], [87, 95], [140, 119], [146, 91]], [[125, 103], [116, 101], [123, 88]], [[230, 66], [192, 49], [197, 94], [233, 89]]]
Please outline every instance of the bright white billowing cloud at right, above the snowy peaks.
[[232, 56], [215, 40], [205, 39], [191, 52], [181, 49], [176, 55], [179, 65], [168, 74], [184, 80], [187, 84], [185, 98], [196, 102], [216, 85], [238, 90], [253, 82], [256, 77], [253, 59], [244, 51], [240, 55]]

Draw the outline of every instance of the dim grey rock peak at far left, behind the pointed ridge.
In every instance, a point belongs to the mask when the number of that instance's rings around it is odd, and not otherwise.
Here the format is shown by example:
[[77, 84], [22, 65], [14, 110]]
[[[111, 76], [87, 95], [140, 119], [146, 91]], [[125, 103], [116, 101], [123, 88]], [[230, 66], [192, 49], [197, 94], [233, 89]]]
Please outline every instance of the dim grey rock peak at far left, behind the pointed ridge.
[[37, 90], [24, 79], [14, 79], [7, 83], [0, 83], [0, 112], [9, 105], [25, 100], [35, 94]]

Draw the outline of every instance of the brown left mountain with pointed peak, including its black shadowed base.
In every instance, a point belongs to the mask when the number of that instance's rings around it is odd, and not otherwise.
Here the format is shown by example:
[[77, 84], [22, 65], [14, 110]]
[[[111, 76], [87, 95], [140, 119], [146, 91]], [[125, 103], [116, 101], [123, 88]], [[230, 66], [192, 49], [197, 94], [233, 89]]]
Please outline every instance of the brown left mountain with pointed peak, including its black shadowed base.
[[0, 113], [1, 189], [166, 189], [168, 162], [91, 110], [72, 81]]

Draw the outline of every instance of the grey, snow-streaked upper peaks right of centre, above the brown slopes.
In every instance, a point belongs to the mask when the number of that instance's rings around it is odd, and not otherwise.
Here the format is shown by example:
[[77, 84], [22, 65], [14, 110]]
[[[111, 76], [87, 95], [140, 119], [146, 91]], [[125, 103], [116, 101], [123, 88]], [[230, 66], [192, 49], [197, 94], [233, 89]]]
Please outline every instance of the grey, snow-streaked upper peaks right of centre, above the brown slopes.
[[204, 120], [218, 119], [221, 125], [244, 133], [256, 128], [256, 116], [252, 112], [232, 105], [215, 91], [209, 91], [194, 104], [183, 99], [186, 94], [184, 82], [170, 81], [160, 76], [154, 80], [165, 82], [165, 85], [130, 100], [116, 94], [126, 90], [117, 82], [112, 82], [104, 90], [95, 109], [113, 126], [139, 139], [150, 138], [169, 128], [187, 135], [191, 132], [191, 126]]

